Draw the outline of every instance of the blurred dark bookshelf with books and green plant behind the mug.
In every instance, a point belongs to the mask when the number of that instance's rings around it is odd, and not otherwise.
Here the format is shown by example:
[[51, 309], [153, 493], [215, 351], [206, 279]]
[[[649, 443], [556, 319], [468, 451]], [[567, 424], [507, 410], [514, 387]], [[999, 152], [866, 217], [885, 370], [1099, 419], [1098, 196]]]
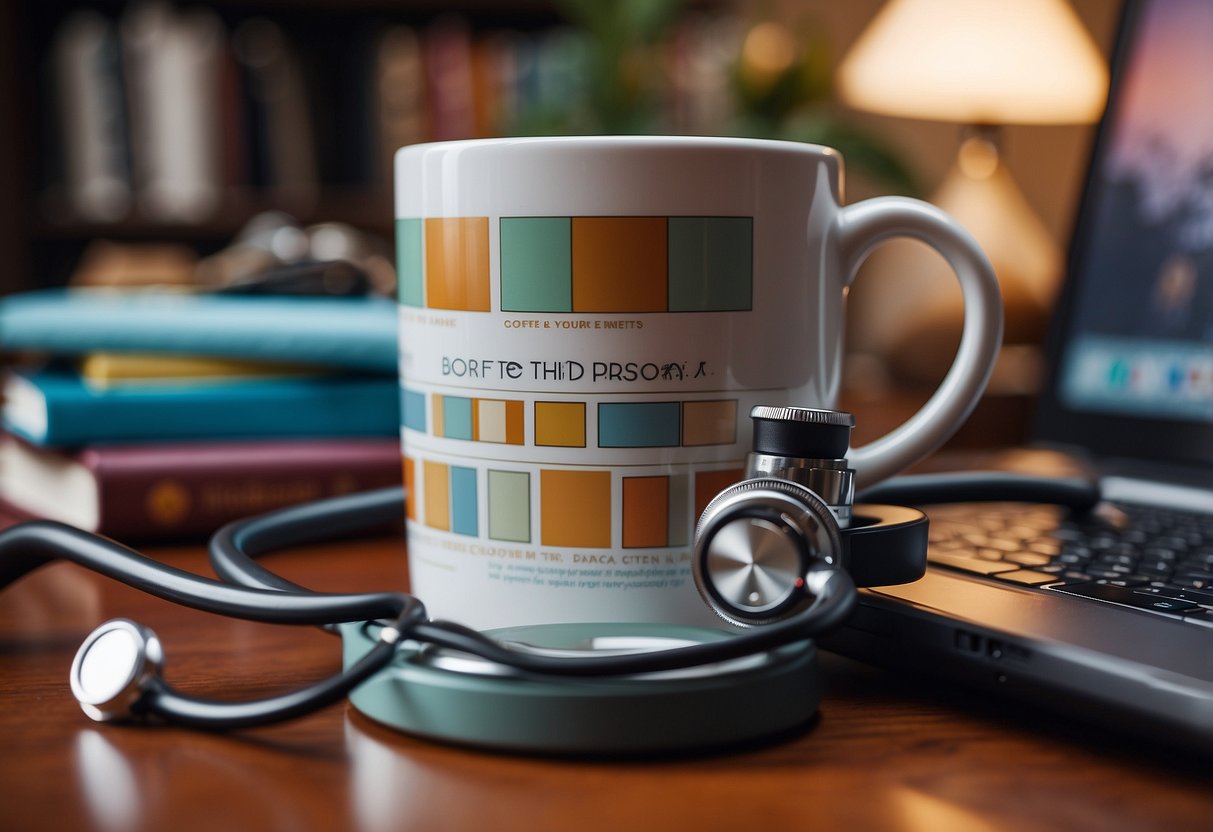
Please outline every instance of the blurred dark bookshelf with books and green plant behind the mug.
[[[389, 241], [391, 153], [415, 141], [788, 138], [912, 193], [899, 153], [831, 99], [826, 5], [0, 2], [0, 294], [62, 285], [98, 240], [207, 255], [267, 210]], [[773, 70], [748, 44], [781, 18], [795, 61]]]

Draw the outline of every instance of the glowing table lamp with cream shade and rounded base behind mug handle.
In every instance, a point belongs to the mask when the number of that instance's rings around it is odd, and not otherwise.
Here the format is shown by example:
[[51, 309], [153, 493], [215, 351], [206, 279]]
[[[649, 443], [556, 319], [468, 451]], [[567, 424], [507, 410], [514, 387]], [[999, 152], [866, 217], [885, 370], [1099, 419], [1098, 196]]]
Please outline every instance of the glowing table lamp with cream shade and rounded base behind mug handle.
[[[930, 199], [990, 257], [1007, 344], [1038, 353], [1064, 260], [1003, 164], [1000, 127], [1099, 119], [1106, 64], [1069, 2], [889, 0], [843, 58], [836, 82], [858, 109], [964, 125], [956, 161]], [[959, 338], [959, 292], [922, 246], [899, 249], [894, 272], [879, 283], [879, 349], [904, 372], [933, 378]], [[1013, 354], [1004, 348], [1002, 364], [1012, 366]], [[995, 377], [1029, 389], [1030, 366], [996, 367]]]

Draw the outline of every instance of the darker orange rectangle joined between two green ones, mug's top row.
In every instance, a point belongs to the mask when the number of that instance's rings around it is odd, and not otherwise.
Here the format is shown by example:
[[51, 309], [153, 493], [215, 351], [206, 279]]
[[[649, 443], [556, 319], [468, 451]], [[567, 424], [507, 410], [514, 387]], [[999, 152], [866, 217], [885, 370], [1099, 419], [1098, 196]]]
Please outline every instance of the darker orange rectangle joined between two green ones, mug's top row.
[[665, 312], [665, 217], [573, 218], [573, 310]]

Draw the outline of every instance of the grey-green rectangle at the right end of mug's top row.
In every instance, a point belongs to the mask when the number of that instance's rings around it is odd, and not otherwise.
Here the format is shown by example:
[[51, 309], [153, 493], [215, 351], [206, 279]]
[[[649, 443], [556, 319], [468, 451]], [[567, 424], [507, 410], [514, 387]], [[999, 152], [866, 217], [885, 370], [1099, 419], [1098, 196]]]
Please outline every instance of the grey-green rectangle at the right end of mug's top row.
[[670, 312], [753, 307], [753, 217], [670, 217]]

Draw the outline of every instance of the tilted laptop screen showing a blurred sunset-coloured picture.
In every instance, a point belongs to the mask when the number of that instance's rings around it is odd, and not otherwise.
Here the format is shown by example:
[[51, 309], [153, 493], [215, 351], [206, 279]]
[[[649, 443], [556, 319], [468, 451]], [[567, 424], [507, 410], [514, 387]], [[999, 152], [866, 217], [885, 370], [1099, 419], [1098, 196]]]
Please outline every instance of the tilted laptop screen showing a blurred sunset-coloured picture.
[[1213, 2], [1129, 4], [1042, 438], [1213, 462]]

